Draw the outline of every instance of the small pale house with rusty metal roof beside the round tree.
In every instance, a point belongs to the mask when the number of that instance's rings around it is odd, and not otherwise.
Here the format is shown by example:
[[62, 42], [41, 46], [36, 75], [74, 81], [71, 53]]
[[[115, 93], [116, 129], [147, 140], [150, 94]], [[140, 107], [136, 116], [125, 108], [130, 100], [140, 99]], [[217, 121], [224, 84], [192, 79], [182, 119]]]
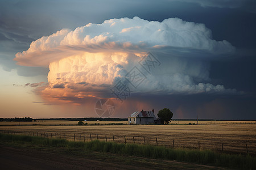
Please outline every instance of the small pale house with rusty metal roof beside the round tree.
[[154, 124], [155, 120], [154, 109], [152, 111], [137, 111], [128, 117], [129, 124]]

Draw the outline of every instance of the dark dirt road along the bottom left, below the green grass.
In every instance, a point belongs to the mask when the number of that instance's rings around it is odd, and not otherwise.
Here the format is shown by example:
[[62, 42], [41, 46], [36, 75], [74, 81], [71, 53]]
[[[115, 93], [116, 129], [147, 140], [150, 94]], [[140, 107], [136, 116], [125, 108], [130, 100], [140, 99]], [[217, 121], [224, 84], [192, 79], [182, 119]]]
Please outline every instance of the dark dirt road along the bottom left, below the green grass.
[[51, 148], [20, 148], [0, 144], [0, 169], [222, 169], [135, 156], [105, 156], [100, 152], [97, 154], [100, 155], [95, 156], [89, 153], [88, 156], [78, 156], [55, 153]]

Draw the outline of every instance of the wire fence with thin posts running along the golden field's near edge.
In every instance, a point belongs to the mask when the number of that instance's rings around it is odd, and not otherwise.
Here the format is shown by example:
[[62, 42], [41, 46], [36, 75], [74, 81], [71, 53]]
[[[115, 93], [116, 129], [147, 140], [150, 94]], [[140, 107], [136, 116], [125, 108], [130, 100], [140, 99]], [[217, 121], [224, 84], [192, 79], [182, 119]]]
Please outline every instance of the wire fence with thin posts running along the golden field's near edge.
[[67, 141], [76, 142], [88, 142], [93, 140], [100, 140], [106, 142], [117, 142], [117, 143], [137, 143], [140, 145], [155, 145], [164, 146], [171, 148], [188, 148], [198, 150], [213, 150], [217, 152], [224, 152], [230, 154], [250, 154], [256, 156], [255, 143], [230, 143], [230, 142], [218, 142], [204, 140], [192, 140], [184, 141], [175, 138], [167, 137], [153, 137], [144, 135], [104, 135], [95, 133], [63, 133], [63, 132], [42, 132], [42, 131], [13, 131], [13, 130], [0, 130], [0, 133], [6, 134], [19, 134], [19, 135], [30, 135], [42, 138], [55, 138], [65, 139]]

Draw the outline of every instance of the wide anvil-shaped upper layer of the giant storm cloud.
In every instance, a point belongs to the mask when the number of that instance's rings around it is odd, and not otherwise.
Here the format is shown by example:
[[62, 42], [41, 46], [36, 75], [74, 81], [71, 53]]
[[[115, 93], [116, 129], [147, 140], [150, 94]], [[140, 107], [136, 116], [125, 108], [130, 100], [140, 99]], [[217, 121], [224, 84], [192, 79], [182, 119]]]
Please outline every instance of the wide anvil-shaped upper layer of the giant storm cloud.
[[82, 52], [141, 52], [163, 46], [215, 54], [234, 51], [228, 41], [213, 40], [212, 32], [204, 24], [179, 18], [148, 22], [134, 17], [105, 20], [102, 24], [89, 23], [74, 31], [61, 29], [31, 42], [30, 48], [17, 53], [14, 60], [24, 66], [48, 66], [53, 61]]

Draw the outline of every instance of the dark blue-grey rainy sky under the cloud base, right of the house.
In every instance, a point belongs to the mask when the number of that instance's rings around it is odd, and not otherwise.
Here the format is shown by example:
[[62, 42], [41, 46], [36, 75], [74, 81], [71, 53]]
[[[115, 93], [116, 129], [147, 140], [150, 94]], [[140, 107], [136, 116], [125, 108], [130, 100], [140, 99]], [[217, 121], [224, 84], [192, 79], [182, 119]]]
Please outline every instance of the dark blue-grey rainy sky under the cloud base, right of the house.
[[[160, 99], [160, 100], [159, 100]], [[160, 98], [155, 95], [132, 96], [124, 101], [138, 100], [148, 103], [156, 113], [160, 109], [170, 108], [174, 113], [174, 119], [256, 119], [256, 97], [247, 95], [163, 95]], [[143, 108], [141, 108], [143, 109]]]

